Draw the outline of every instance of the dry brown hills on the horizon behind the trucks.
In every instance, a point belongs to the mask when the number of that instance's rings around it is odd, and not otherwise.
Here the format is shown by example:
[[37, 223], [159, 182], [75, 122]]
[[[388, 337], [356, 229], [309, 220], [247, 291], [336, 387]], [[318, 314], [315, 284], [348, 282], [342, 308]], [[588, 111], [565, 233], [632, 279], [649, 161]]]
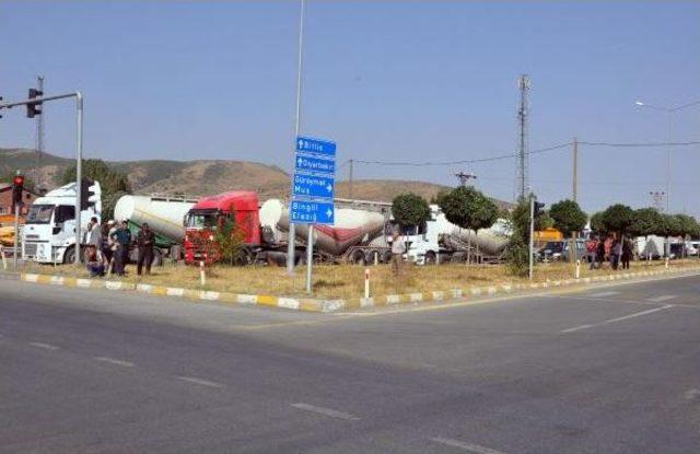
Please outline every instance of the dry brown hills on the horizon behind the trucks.
[[[43, 153], [38, 170], [42, 186], [52, 188], [73, 160]], [[33, 171], [36, 152], [27, 149], [0, 149], [0, 176], [11, 175], [16, 168], [36, 179]], [[289, 174], [275, 165], [248, 161], [121, 161], [107, 162], [128, 175], [137, 194], [184, 193], [191, 196], [218, 194], [233, 189], [253, 189], [261, 199], [285, 198], [290, 190]], [[412, 191], [428, 200], [447, 186], [401, 179], [359, 179], [352, 183], [352, 198], [392, 201], [401, 193]], [[337, 197], [350, 196], [348, 182], [338, 182]], [[503, 206], [503, 202], [499, 206]]]

